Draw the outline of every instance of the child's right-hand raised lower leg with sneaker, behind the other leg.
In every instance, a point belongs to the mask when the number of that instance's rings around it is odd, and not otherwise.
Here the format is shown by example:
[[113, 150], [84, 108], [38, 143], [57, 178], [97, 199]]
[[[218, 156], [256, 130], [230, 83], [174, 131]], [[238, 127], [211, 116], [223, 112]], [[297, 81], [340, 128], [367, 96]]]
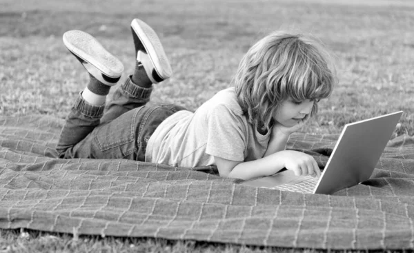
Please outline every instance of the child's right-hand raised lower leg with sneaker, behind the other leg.
[[135, 45], [135, 71], [113, 94], [101, 123], [111, 121], [119, 115], [145, 105], [150, 100], [152, 83], [168, 79], [171, 66], [159, 41], [150, 26], [139, 19], [131, 22]]

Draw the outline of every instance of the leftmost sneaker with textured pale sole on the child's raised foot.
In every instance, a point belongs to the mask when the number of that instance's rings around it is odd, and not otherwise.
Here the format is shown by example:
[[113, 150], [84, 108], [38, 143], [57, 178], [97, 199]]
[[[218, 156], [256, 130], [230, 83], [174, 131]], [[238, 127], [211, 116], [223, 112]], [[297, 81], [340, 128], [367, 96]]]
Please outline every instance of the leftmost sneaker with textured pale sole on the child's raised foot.
[[106, 85], [115, 85], [124, 72], [124, 65], [95, 39], [79, 30], [63, 34], [63, 43], [88, 70], [89, 74]]

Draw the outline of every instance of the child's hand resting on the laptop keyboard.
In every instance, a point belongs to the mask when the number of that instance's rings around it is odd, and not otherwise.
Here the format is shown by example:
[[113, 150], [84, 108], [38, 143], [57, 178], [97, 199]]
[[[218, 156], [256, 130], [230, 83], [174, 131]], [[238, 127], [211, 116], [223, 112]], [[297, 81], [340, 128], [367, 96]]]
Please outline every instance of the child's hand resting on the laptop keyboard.
[[284, 167], [295, 172], [296, 176], [310, 175], [319, 178], [321, 175], [321, 171], [313, 156], [294, 150], [284, 150], [282, 152], [284, 153]]

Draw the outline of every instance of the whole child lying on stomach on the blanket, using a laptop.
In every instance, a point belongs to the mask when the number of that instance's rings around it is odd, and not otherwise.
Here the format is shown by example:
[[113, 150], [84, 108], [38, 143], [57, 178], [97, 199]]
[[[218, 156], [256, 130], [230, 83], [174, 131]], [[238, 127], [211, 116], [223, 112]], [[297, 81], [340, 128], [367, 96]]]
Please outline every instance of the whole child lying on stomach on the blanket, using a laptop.
[[186, 168], [216, 165], [220, 176], [253, 179], [282, 168], [319, 176], [315, 159], [284, 150], [291, 133], [331, 94], [335, 75], [319, 45], [302, 35], [274, 32], [243, 57], [234, 87], [194, 113], [179, 105], [147, 105], [153, 83], [168, 79], [170, 63], [157, 34], [131, 23], [135, 71], [106, 95], [124, 70], [90, 34], [69, 31], [63, 42], [90, 74], [61, 132], [61, 158], [134, 159]]

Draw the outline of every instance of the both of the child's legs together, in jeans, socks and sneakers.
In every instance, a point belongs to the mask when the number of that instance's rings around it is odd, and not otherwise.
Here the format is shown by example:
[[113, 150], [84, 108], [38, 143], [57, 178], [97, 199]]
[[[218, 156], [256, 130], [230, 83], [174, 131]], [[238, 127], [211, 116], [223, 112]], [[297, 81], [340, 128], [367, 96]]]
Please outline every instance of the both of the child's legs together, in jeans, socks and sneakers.
[[[171, 69], [157, 34], [137, 19], [132, 21], [131, 28], [137, 52], [135, 72], [117, 89], [105, 114], [106, 94], [110, 85], [119, 80], [124, 67], [89, 34], [77, 31], [79, 37], [63, 38], [90, 73], [90, 83], [77, 98], [61, 132], [57, 145], [61, 158], [143, 160], [152, 131], [168, 115], [184, 109], [143, 106], [149, 100], [152, 83], [170, 77]], [[91, 52], [84, 55], [83, 51]]]

